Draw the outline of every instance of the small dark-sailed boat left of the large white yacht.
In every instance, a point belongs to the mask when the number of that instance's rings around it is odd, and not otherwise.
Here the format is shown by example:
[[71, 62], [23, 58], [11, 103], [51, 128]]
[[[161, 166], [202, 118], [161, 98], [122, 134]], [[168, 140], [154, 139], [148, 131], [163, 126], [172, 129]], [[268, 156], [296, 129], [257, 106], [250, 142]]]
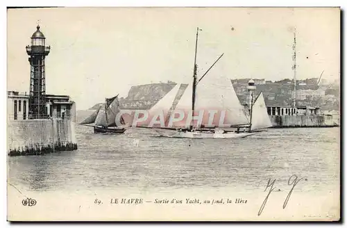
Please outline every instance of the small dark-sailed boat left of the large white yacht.
[[[116, 117], [120, 112], [118, 95], [106, 98], [105, 103], [87, 117], [81, 125], [94, 127], [94, 133], [124, 133], [124, 127], [117, 126]], [[121, 124], [125, 124], [123, 117], [120, 119]], [[92, 125], [89, 125], [92, 124]]]

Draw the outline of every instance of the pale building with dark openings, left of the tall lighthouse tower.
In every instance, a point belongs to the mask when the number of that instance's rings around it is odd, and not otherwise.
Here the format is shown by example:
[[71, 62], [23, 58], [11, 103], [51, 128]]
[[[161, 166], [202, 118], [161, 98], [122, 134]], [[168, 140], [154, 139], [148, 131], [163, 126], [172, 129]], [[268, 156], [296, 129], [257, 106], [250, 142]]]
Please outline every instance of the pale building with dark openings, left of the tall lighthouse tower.
[[29, 96], [26, 93], [8, 91], [7, 113], [9, 120], [28, 120]]

